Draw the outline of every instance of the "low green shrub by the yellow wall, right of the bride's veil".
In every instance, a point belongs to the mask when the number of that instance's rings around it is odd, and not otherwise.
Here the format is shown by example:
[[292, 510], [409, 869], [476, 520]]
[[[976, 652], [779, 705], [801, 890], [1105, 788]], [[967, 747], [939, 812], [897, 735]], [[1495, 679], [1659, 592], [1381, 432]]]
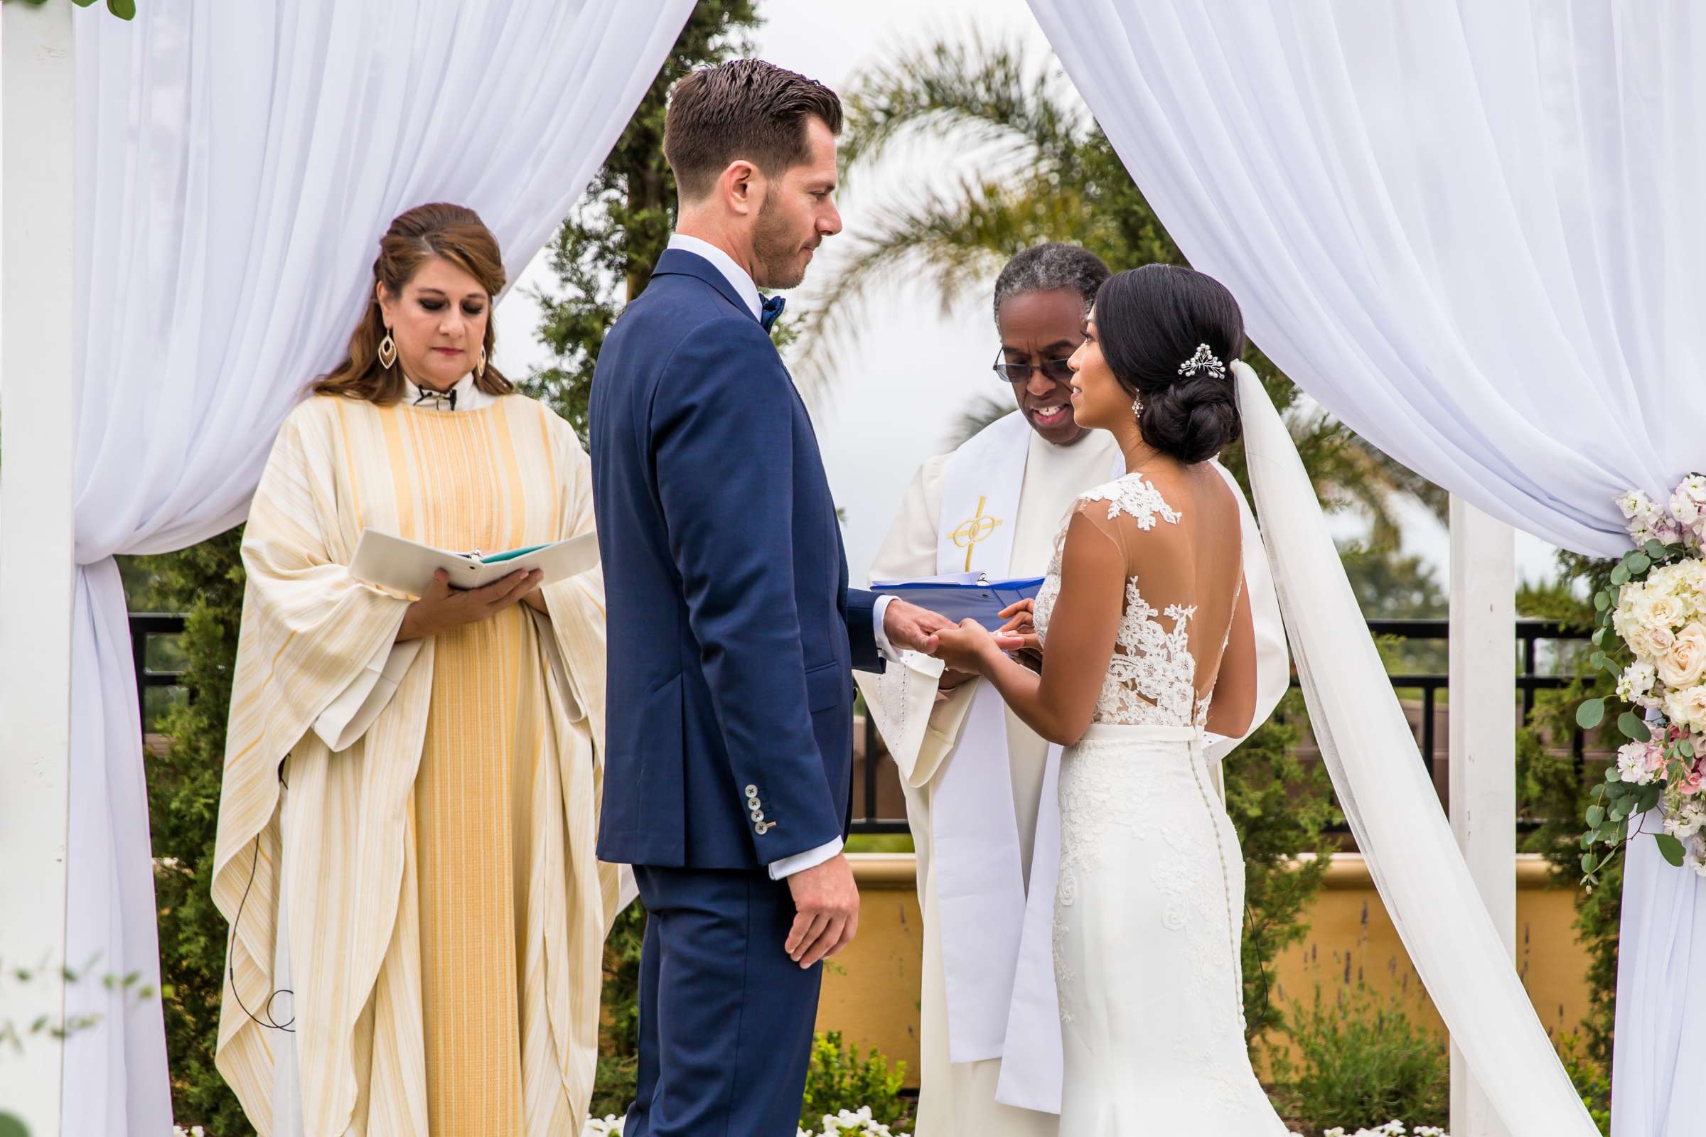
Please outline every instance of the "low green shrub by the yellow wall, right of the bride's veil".
[[1329, 1001], [1317, 984], [1314, 1002], [1293, 1002], [1288, 1018], [1297, 1057], [1271, 1052], [1274, 1098], [1286, 1117], [1351, 1132], [1392, 1118], [1413, 1127], [1447, 1123], [1447, 1045], [1414, 1021], [1399, 997], [1358, 980]]

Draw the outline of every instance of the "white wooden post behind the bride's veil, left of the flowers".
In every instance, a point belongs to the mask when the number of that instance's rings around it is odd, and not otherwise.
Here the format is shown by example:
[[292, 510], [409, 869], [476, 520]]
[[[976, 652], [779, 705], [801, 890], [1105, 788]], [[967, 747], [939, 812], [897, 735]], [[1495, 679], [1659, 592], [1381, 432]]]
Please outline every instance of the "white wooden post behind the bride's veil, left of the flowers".
[[[1517, 958], [1517, 534], [1452, 494], [1452, 832]], [[1452, 1137], [1505, 1137], [1452, 1047]]]

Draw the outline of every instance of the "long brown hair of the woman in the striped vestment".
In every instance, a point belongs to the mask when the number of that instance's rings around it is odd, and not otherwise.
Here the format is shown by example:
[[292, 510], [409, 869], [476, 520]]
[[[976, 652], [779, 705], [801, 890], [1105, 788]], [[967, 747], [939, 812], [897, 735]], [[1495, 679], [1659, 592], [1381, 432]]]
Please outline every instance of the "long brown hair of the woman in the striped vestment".
[[[479, 215], [462, 205], [418, 205], [397, 215], [386, 235], [379, 239], [379, 257], [374, 261], [374, 283], [384, 281], [386, 291], [403, 297], [403, 288], [426, 261], [442, 257], [481, 283], [495, 302], [503, 291], [503, 257], [498, 240], [479, 220]], [[496, 327], [491, 309], [486, 309], [486, 373], [474, 377], [474, 385], [488, 395], [507, 395], [515, 384], [503, 378], [491, 365], [496, 348]], [[386, 314], [379, 307], [377, 290], [367, 288], [367, 310], [350, 334], [350, 355], [314, 384], [317, 395], [345, 395], [387, 406], [403, 397], [403, 368], [379, 365], [379, 341], [386, 338]]]

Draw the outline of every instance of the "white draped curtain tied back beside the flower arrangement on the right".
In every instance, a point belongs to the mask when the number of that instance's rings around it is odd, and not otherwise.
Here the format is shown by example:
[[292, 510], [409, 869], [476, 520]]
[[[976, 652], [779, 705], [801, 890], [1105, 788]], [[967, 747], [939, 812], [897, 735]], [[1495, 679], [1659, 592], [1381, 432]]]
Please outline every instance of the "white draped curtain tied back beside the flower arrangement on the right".
[[[1628, 549], [1616, 494], [1668, 496], [1706, 467], [1697, 5], [1030, 7], [1192, 266], [1382, 450], [1592, 554]], [[1674, 1071], [1697, 1069], [1706, 1043], [1680, 1043], [1692, 1060], [1638, 1047], [1706, 1011], [1706, 984], [1691, 1009], [1679, 982], [1706, 905], [1645, 852], [1628, 866], [1614, 1128], [1670, 1137]], [[1406, 943], [1425, 936], [1411, 924]], [[1532, 1127], [1512, 1110], [1513, 1132]]]

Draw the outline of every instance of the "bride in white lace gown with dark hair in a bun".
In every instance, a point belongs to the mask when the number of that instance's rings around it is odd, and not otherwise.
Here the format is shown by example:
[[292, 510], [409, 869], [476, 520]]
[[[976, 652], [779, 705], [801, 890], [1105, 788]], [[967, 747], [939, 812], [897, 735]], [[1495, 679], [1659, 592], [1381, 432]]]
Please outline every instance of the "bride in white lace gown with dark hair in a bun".
[[1286, 1134], [1244, 1045], [1244, 857], [1203, 733], [1245, 733], [1256, 643], [1239, 505], [1208, 464], [1239, 435], [1237, 303], [1191, 269], [1111, 278], [1073, 355], [1073, 411], [1128, 474], [1083, 494], [1036, 603], [1041, 673], [967, 620], [949, 667], [989, 678], [1061, 760], [1054, 972], [1061, 1132]]

